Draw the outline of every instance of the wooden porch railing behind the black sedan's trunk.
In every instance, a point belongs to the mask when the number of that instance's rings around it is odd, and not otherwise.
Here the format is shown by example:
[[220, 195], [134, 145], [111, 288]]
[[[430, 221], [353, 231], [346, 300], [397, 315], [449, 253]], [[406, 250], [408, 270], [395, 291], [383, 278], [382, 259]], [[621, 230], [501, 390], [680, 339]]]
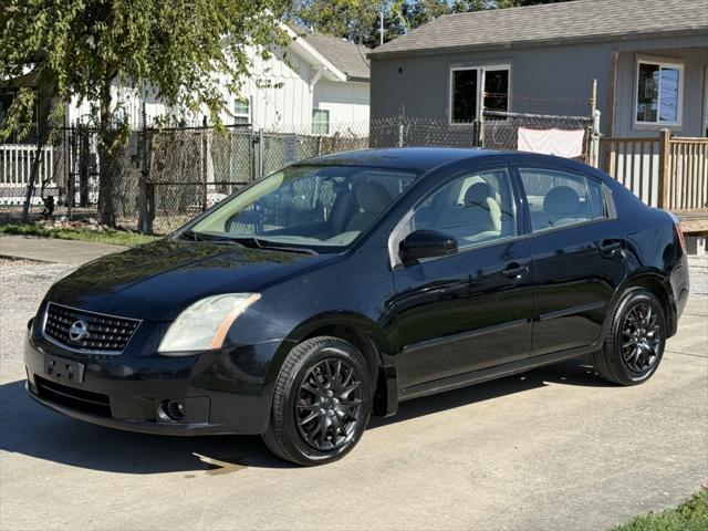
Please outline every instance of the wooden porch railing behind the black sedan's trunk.
[[708, 206], [708, 138], [603, 137], [601, 167], [644, 202], [673, 210]]

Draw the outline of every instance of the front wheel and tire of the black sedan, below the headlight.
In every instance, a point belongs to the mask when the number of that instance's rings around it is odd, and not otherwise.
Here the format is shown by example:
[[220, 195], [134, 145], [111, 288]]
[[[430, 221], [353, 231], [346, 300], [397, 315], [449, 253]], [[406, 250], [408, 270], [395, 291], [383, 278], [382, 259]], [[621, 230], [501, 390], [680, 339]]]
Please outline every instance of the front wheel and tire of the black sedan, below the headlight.
[[353, 345], [327, 336], [306, 340], [280, 369], [263, 441], [296, 465], [335, 461], [361, 439], [372, 403], [366, 361]]

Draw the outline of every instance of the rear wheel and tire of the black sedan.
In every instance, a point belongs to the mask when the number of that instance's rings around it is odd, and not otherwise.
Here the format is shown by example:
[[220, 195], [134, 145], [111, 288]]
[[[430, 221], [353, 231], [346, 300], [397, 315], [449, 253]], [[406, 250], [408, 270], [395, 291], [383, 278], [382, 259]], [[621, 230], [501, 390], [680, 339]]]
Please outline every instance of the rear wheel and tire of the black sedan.
[[593, 354], [595, 372], [613, 384], [642, 384], [659, 366], [665, 344], [662, 304], [652, 292], [631, 289], [614, 308], [603, 347]]

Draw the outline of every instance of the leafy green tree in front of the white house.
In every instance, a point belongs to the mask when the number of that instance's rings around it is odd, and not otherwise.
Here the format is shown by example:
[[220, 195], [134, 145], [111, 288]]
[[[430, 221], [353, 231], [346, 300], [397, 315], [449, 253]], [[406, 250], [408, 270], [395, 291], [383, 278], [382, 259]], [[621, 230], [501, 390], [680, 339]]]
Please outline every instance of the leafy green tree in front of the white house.
[[[226, 94], [239, 92], [251, 69], [249, 46], [268, 56], [284, 45], [281, 19], [289, 0], [3, 0], [0, 82], [28, 72], [37, 90], [22, 88], [0, 124], [0, 142], [21, 129], [38, 94], [51, 94], [61, 118], [72, 98], [92, 103], [98, 133], [101, 221], [116, 223], [111, 158], [127, 138], [117, 83], [145, 90], [167, 105], [208, 108], [216, 125]], [[20, 133], [24, 133], [20, 131]]]

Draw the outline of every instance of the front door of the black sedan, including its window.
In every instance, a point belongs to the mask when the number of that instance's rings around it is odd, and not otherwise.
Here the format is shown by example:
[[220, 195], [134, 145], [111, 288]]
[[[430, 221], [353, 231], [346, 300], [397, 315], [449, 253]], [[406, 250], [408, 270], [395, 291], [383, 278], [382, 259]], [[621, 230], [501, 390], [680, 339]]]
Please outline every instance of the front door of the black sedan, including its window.
[[404, 218], [400, 240], [435, 230], [455, 238], [458, 251], [394, 267], [403, 395], [529, 356], [532, 275], [520, 218], [506, 166], [452, 179]]

